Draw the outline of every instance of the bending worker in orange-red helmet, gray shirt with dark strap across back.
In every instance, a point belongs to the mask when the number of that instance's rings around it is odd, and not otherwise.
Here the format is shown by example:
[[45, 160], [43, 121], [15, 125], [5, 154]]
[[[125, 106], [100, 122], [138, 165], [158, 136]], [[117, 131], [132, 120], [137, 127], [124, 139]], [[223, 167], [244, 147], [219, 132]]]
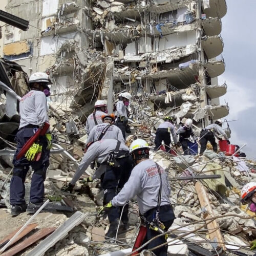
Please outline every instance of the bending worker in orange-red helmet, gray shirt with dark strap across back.
[[101, 139], [115, 139], [121, 141], [123, 144], [125, 144], [123, 135], [121, 130], [114, 125], [115, 122], [115, 115], [102, 115], [101, 119], [103, 123], [100, 123], [93, 127], [91, 130], [88, 138], [87, 138], [87, 144], [92, 141], [97, 141]]

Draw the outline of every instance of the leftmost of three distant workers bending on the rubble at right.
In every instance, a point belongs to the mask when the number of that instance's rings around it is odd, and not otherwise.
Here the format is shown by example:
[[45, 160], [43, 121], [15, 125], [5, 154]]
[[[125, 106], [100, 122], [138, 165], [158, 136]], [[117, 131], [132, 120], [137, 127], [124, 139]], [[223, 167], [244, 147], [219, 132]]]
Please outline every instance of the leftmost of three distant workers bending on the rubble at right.
[[158, 126], [155, 138], [155, 148], [154, 150], [159, 150], [160, 146], [162, 145], [162, 140], [164, 141], [164, 146], [166, 152], [170, 152], [170, 132], [172, 133], [175, 147], [177, 148], [177, 135], [175, 126], [172, 124], [172, 118], [170, 116], [166, 116], [165, 121]]

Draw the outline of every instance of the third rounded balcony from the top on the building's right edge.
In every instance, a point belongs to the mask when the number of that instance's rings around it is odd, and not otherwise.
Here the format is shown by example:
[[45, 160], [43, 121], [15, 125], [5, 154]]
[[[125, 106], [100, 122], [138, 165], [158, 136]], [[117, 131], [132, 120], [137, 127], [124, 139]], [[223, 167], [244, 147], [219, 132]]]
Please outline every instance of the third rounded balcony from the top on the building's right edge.
[[224, 48], [221, 36], [204, 36], [201, 39], [201, 44], [208, 59], [220, 55]]

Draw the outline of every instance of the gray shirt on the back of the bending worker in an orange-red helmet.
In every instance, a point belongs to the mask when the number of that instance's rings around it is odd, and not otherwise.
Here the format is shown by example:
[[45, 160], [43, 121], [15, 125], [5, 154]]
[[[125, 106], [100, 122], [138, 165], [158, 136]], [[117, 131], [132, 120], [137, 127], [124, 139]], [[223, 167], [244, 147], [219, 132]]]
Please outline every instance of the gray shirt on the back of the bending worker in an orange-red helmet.
[[[97, 141], [99, 136], [101, 135], [102, 131], [104, 130], [104, 128], [108, 125], [109, 125], [109, 123], [100, 123], [100, 124], [94, 126], [87, 138], [86, 143], [89, 143], [91, 141]], [[108, 128], [108, 130], [106, 130], [105, 134], [103, 135], [103, 137], [101, 139], [115, 139], [115, 140], [119, 140], [119, 141], [121, 141], [121, 143], [125, 144], [125, 141], [124, 141], [124, 138], [123, 138], [120, 128], [118, 128], [114, 124], [112, 124]]]

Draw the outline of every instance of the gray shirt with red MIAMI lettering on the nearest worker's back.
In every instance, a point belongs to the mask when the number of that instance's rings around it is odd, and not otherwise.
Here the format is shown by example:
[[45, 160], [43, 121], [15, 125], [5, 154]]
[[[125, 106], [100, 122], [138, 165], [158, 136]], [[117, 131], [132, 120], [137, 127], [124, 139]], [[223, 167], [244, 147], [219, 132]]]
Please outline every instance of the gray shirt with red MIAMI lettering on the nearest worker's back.
[[[162, 178], [161, 205], [170, 204], [170, 185], [167, 174], [160, 167]], [[156, 163], [147, 159], [137, 164], [129, 180], [124, 184], [121, 191], [111, 202], [113, 206], [122, 206], [137, 195], [139, 210], [141, 214], [157, 206], [160, 176]]]

